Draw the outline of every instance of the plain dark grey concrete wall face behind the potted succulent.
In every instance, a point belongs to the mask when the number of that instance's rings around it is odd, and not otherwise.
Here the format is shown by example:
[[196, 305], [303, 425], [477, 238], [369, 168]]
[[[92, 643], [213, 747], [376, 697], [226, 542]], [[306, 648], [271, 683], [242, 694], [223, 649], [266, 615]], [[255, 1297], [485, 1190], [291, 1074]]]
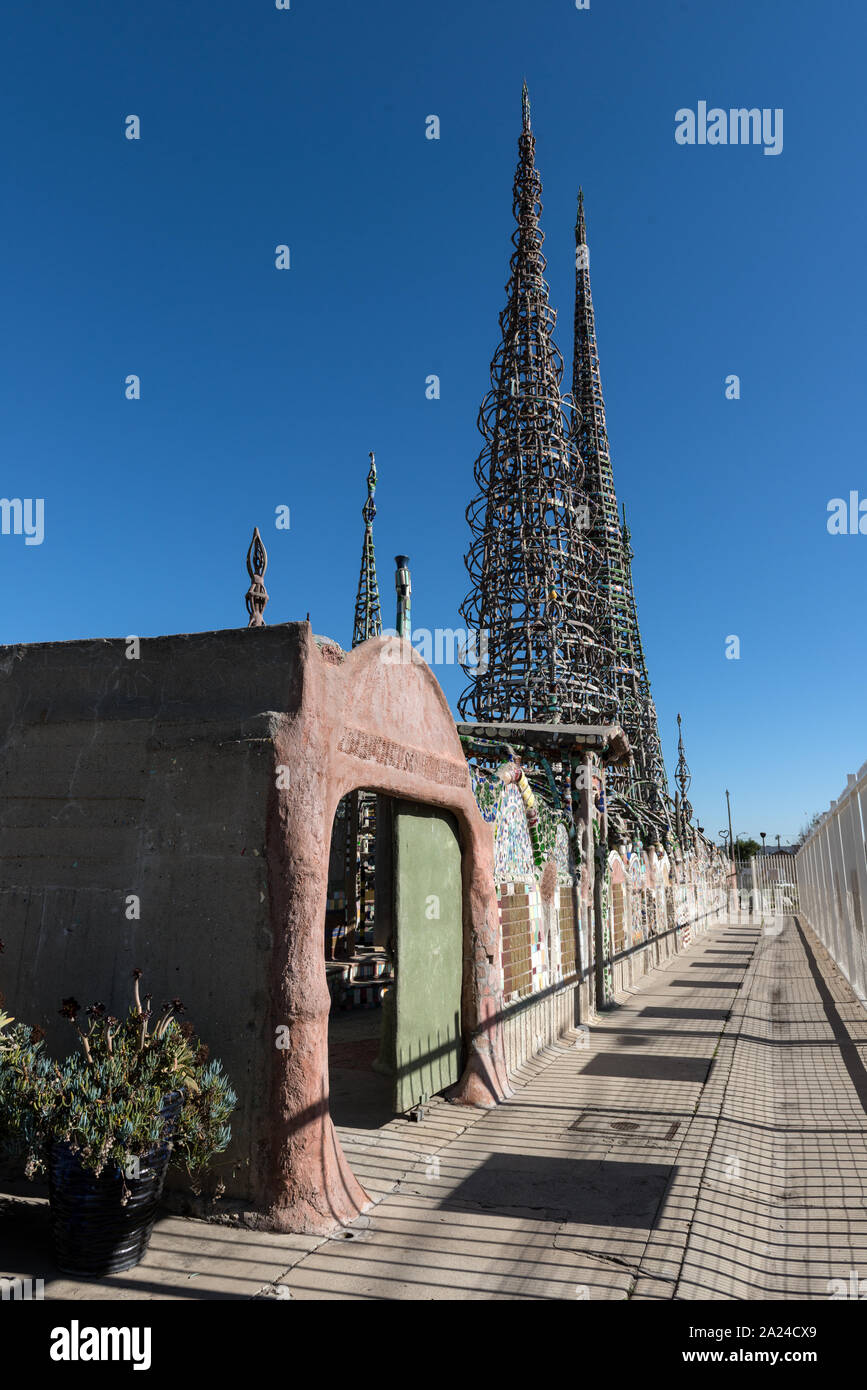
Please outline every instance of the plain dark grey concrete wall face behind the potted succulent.
[[[179, 997], [239, 1093], [231, 1190], [247, 1187], [272, 931], [264, 806], [286, 641], [246, 632], [6, 648], [0, 655], [0, 987], [63, 1054], [61, 998], [125, 1013], [131, 973]], [[276, 635], [276, 634], [275, 634]], [[129, 898], [138, 899], [138, 906]], [[136, 917], [135, 913], [139, 913]]]

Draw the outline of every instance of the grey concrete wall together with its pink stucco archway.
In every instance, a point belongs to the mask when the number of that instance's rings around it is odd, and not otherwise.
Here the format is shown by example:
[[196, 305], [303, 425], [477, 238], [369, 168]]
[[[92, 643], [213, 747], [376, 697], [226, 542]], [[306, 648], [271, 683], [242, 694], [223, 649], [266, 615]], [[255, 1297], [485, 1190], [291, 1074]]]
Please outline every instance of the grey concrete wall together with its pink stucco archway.
[[[181, 997], [236, 1087], [228, 1191], [331, 1230], [368, 1198], [328, 1112], [324, 920], [340, 796], [450, 810], [463, 895], [459, 1102], [506, 1094], [493, 847], [445, 696], [397, 638], [308, 624], [0, 649], [8, 1011], [69, 1049], [60, 999]], [[128, 899], [140, 902], [138, 919]], [[275, 1034], [288, 1036], [278, 1049]]]

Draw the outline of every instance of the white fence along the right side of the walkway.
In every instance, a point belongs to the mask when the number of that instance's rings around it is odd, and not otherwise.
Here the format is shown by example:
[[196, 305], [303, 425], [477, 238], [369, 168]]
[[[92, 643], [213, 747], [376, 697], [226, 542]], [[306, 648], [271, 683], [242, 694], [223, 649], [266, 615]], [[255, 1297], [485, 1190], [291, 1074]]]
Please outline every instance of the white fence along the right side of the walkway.
[[866, 831], [867, 763], [857, 777], [849, 773], [846, 790], [795, 858], [803, 915], [861, 1002], [867, 1002]]

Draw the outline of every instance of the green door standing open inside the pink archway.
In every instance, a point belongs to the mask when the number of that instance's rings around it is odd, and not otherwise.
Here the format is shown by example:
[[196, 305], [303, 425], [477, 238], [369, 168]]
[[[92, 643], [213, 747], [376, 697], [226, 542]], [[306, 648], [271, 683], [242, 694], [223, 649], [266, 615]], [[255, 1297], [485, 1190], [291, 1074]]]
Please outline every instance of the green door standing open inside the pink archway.
[[395, 802], [395, 1111], [460, 1076], [461, 862], [449, 812]]

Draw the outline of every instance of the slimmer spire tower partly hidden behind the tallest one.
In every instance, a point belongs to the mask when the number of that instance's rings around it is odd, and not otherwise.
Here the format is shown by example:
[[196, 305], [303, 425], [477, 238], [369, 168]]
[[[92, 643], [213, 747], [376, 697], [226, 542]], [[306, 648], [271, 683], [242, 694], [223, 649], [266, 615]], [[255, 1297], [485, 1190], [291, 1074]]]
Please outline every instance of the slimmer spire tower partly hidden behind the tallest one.
[[617, 493], [606, 425], [596, 317], [591, 292], [591, 259], [586, 239], [584, 192], [578, 192], [575, 220], [575, 348], [572, 357], [574, 442], [584, 460], [591, 509], [589, 539], [600, 555], [602, 600], [599, 639], [607, 662], [607, 717], [617, 719], [634, 753], [631, 769], [613, 769], [611, 787], [668, 820], [668, 783], [661, 753], [656, 709], [642, 649], [632, 549], [625, 514], [617, 514]]

